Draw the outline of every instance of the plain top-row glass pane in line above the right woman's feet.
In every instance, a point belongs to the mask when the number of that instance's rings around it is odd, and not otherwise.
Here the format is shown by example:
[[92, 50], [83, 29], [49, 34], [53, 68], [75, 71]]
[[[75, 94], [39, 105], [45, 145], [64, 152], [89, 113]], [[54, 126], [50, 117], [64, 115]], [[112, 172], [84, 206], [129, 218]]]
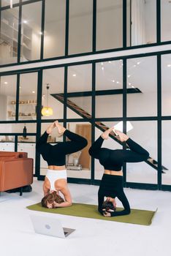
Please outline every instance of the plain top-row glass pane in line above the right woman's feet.
[[123, 1], [96, 1], [96, 50], [123, 45]]

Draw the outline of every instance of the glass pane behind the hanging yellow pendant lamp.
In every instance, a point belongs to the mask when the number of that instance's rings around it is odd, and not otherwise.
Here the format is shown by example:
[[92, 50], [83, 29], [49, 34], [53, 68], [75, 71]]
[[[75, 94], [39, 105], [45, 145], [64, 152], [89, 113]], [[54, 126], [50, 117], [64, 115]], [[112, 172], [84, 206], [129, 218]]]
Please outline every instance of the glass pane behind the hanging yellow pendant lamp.
[[[47, 84], [48, 102], [47, 102]], [[42, 107], [53, 109], [53, 116], [42, 116], [42, 119], [58, 119], [64, 117], [64, 68], [45, 69], [42, 82]]]

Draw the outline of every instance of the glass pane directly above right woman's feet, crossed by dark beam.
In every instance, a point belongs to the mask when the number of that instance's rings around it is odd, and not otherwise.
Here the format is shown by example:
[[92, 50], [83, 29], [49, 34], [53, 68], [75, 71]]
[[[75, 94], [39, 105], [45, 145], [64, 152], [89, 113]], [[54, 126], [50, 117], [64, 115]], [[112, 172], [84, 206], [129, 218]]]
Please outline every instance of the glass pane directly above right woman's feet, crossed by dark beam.
[[96, 64], [96, 118], [121, 117], [123, 114], [122, 65], [122, 60]]

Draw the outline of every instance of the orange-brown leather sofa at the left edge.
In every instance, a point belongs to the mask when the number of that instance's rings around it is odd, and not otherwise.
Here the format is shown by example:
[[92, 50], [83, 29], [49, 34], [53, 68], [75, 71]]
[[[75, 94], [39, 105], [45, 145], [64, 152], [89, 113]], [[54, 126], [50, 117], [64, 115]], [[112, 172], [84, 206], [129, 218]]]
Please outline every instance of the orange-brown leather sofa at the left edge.
[[33, 159], [26, 152], [0, 151], [0, 192], [33, 183]]

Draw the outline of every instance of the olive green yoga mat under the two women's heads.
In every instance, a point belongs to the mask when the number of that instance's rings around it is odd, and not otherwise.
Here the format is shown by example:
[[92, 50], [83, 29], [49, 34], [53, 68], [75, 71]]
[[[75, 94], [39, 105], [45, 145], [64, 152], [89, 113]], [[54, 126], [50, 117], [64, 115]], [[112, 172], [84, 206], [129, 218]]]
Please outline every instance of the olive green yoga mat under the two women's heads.
[[[83, 203], [73, 203], [72, 206], [65, 208], [52, 208], [48, 209], [41, 206], [41, 203], [36, 203], [31, 206], [27, 206], [29, 210], [33, 211], [43, 211], [50, 212], [52, 214], [64, 214], [75, 217], [83, 217], [83, 218], [91, 218], [91, 219], [102, 219], [110, 222], [125, 222], [132, 223], [137, 225], [151, 225], [151, 221], [153, 219], [156, 211], [145, 211], [145, 210], [137, 210], [132, 209], [131, 214], [118, 216], [118, 217], [103, 217], [97, 211], [97, 206], [83, 204]], [[118, 211], [121, 211], [122, 208], [117, 208]]]

